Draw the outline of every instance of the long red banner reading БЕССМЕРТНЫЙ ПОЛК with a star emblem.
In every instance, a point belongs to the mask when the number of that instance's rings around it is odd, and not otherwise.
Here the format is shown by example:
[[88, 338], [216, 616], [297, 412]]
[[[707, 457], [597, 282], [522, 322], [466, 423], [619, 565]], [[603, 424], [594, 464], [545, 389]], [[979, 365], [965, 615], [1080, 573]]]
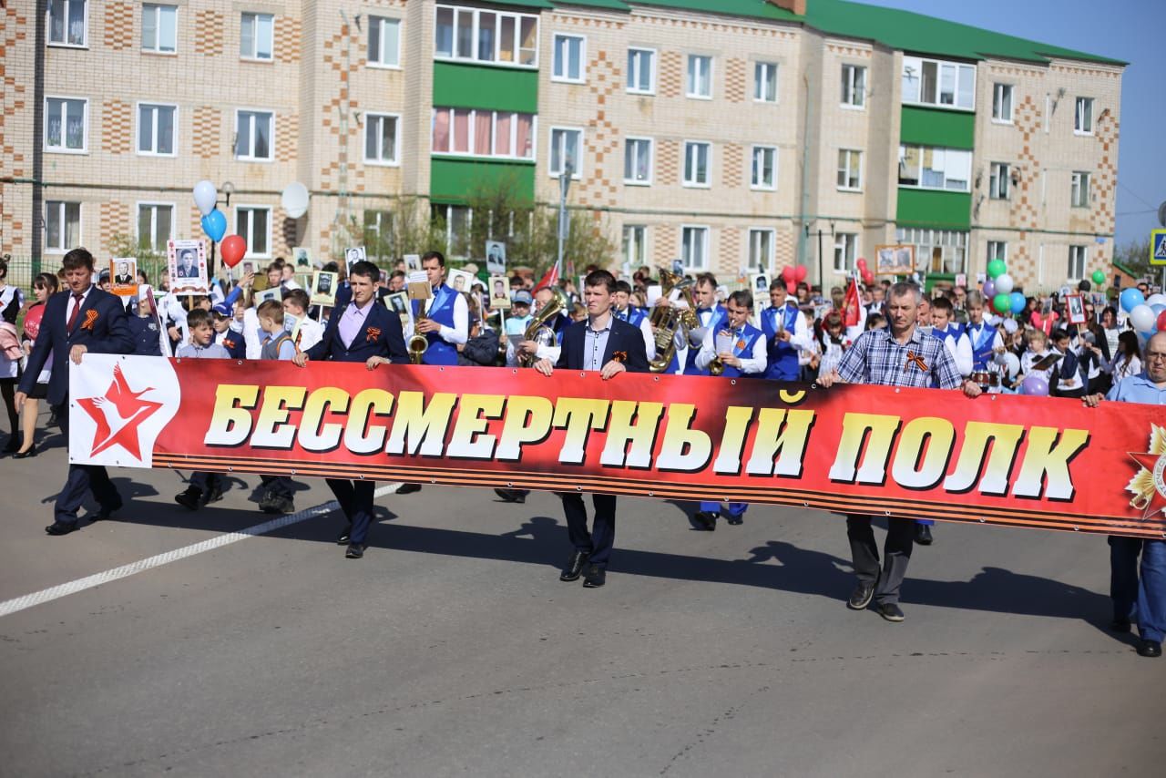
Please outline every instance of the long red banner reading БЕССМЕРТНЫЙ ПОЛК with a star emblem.
[[1166, 534], [1161, 409], [881, 386], [86, 355], [70, 457]]

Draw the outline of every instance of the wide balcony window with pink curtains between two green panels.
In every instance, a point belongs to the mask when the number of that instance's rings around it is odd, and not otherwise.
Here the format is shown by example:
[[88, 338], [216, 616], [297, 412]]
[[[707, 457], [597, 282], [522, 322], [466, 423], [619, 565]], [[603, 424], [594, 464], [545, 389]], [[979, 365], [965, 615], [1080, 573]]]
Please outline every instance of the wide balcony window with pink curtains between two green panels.
[[534, 122], [529, 113], [434, 108], [434, 154], [534, 159]]

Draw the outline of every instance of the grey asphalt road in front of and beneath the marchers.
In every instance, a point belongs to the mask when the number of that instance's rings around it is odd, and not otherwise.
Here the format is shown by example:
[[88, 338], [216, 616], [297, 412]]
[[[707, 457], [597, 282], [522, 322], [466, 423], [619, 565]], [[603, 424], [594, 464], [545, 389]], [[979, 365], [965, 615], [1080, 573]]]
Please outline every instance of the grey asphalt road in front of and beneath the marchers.
[[[51, 444], [59, 436], [50, 436]], [[64, 450], [0, 462], [0, 601], [268, 517], [120, 470], [117, 520], [50, 538]], [[330, 499], [322, 482], [296, 495]], [[907, 621], [851, 612], [844, 521], [693, 530], [620, 499], [607, 586], [557, 580], [553, 495], [378, 499], [0, 616], [0, 776], [1114, 776], [1166, 761], [1166, 661], [1107, 632], [1101, 537], [936, 527]]]

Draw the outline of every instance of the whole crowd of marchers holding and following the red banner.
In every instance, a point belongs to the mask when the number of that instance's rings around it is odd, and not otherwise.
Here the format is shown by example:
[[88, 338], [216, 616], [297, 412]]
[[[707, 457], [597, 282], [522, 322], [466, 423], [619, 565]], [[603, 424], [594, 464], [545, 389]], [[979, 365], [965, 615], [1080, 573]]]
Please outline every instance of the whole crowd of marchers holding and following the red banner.
[[[535, 285], [533, 276], [510, 279], [507, 309], [491, 307], [486, 283], [469, 290], [447, 283], [445, 258], [421, 257], [429, 289], [410, 295], [398, 310], [391, 295], [406, 289], [403, 262], [382, 271], [375, 264], [321, 267], [338, 273], [335, 304], [312, 306], [296, 268], [276, 260], [261, 276], [237, 282], [216, 279], [206, 296], [176, 296], [160, 279], [157, 296], [139, 274], [136, 299], [108, 293], [108, 272], [96, 274], [84, 248], [69, 252], [59, 274], [42, 273], [35, 299], [6, 283], [0, 264], [0, 387], [12, 430], [5, 451], [36, 455], [38, 402], [59, 408], [50, 423], [68, 436], [68, 362], [86, 351], [174, 355], [178, 358], [280, 359], [297, 366], [311, 362], [359, 362], [372, 370], [388, 364], [507, 365], [553, 376], [556, 369], [597, 371], [606, 380], [621, 372], [753, 377], [780, 381], [865, 383], [983, 392], [1082, 398], [1096, 406], [1110, 399], [1166, 402], [1166, 332], [1146, 338], [1130, 328], [1121, 308], [1091, 292], [1088, 281], [1070, 300], [1053, 294], [1025, 300], [1023, 310], [997, 315], [977, 289], [936, 287], [925, 295], [907, 282], [869, 283], [817, 295], [805, 282], [781, 278], [754, 297], [750, 285], [721, 283], [711, 273], [695, 278], [647, 267], [631, 278], [589, 267], [582, 288], [571, 279]], [[468, 268], [470, 269], [470, 268]], [[477, 268], [472, 268], [475, 272]], [[58, 288], [64, 289], [57, 292]], [[253, 304], [257, 292], [279, 289], [279, 299]], [[1147, 295], [1149, 288], [1143, 289]], [[649, 304], [651, 301], [651, 304]], [[508, 315], [507, 315], [508, 311]], [[83, 313], [85, 314], [82, 317]], [[22, 324], [22, 331], [17, 331]], [[23, 419], [19, 414], [23, 412]], [[295, 510], [286, 476], [264, 476], [260, 507], [271, 513]], [[344, 514], [338, 542], [349, 559], [367, 547], [374, 484], [329, 478]], [[405, 484], [398, 493], [417, 491]], [[57, 498], [50, 535], [78, 527], [78, 509], [92, 492], [100, 520], [122, 502], [104, 468], [70, 465]], [[521, 503], [521, 490], [496, 490], [507, 503]], [[589, 528], [582, 495], [561, 495], [571, 553], [561, 580], [583, 579], [596, 588], [606, 581], [614, 539], [616, 497], [593, 495]], [[222, 498], [213, 474], [196, 472], [175, 499], [199, 510]], [[712, 531], [724, 518], [744, 520], [745, 504], [702, 502], [694, 520]], [[904, 619], [899, 593], [915, 544], [929, 545], [929, 521], [888, 523], [881, 558], [871, 517], [848, 516], [848, 537], [857, 586], [848, 605], [865, 610], [873, 602], [891, 622]], [[1116, 541], [1116, 542], [1115, 542]], [[1114, 629], [1139, 626], [1138, 652], [1161, 652], [1166, 630], [1166, 541], [1111, 540]], [[1140, 580], [1138, 563], [1140, 554]]]

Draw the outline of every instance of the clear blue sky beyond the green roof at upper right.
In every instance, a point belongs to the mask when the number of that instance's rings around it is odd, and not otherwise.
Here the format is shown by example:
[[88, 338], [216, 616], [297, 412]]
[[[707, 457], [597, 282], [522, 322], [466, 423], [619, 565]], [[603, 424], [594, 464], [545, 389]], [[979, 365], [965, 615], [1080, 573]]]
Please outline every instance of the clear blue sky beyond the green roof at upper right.
[[[809, 0], [813, 2], [814, 0]], [[1166, 0], [858, 0], [1129, 62], [1122, 77], [1117, 244], [1166, 201]]]

